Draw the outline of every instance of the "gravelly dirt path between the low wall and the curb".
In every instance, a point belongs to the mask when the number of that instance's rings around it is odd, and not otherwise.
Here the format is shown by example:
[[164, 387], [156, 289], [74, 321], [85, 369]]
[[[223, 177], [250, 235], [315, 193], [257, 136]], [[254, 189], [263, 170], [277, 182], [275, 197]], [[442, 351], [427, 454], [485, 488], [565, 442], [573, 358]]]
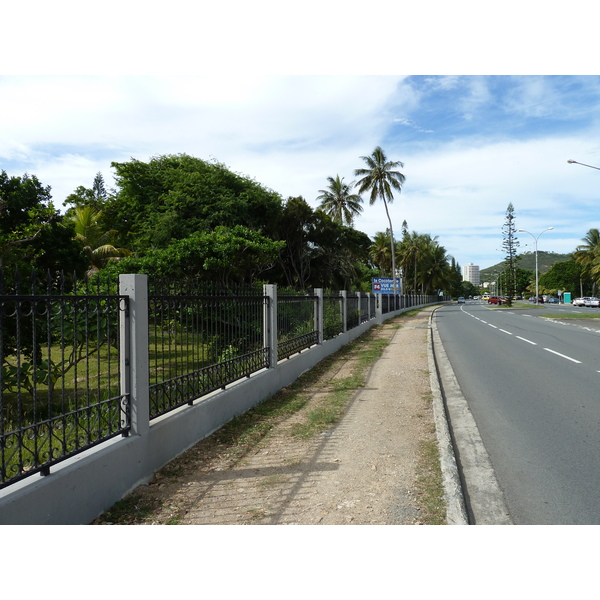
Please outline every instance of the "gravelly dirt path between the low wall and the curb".
[[[427, 360], [430, 312], [377, 328], [376, 335], [389, 345], [330, 429], [309, 439], [292, 435], [332, 393], [334, 382], [352, 375], [358, 364], [352, 354], [333, 360], [303, 390], [302, 410], [281, 419], [241, 456], [239, 448], [234, 451], [215, 434], [122, 501], [127, 518], [116, 521], [108, 513], [96, 523], [431, 522], [423, 479], [436, 480], [439, 463], [435, 452], [431, 455], [436, 434]], [[437, 510], [443, 514], [443, 507]]]

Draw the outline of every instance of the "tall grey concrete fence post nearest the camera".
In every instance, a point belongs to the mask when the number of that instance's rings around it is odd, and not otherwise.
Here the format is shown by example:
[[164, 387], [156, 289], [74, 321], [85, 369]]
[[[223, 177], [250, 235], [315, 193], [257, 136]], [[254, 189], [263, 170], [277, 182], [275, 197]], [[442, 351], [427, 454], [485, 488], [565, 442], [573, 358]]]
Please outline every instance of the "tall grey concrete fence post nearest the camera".
[[119, 294], [129, 296], [120, 322], [121, 393], [129, 393], [131, 434], [150, 429], [150, 358], [148, 343], [148, 276], [119, 275]]

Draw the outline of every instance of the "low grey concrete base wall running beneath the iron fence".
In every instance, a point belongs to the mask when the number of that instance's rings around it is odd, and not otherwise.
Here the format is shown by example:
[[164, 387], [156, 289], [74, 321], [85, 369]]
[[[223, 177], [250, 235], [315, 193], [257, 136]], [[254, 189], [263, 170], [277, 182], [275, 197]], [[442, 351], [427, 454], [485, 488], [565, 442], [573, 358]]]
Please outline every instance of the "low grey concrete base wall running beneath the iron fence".
[[[412, 307], [415, 308], [415, 307]], [[368, 329], [411, 309], [378, 315], [275, 368], [171, 411], [140, 433], [115, 438], [0, 490], [0, 524], [86, 524], [237, 415], [264, 402]]]

